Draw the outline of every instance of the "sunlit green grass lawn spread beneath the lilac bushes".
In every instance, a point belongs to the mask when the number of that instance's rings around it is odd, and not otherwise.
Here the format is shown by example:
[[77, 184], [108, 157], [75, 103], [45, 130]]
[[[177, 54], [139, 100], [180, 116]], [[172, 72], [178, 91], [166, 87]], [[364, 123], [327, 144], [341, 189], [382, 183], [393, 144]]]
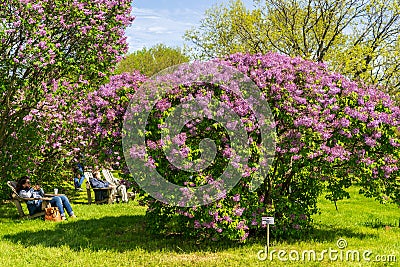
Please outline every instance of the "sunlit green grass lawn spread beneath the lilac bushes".
[[[322, 213], [314, 216], [311, 236], [296, 242], [271, 240], [270, 249], [277, 251], [273, 261], [257, 258], [265, 239], [198, 243], [178, 236], [152, 236], [144, 228], [145, 208], [135, 202], [89, 206], [83, 204], [81, 192], [71, 196], [79, 218], [60, 223], [18, 220], [13, 203], [0, 204], [0, 266], [400, 266], [400, 209], [366, 199], [356, 189], [350, 193], [350, 199], [338, 203], [338, 211], [333, 203], [320, 200]], [[341, 250], [343, 260], [330, 261], [328, 252], [321, 262], [283, 262], [277, 256], [282, 250], [295, 258], [296, 250], [301, 259], [303, 252], [314, 250], [318, 258], [324, 250], [340, 251], [339, 239], [347, 242]], [[346, 261], [345, 254], [355, 250], [360, 261]], [[362, 259], [366, 250], [370, 262]], [[373, 262], [388, 255], [396, 256], [396, 262]]]

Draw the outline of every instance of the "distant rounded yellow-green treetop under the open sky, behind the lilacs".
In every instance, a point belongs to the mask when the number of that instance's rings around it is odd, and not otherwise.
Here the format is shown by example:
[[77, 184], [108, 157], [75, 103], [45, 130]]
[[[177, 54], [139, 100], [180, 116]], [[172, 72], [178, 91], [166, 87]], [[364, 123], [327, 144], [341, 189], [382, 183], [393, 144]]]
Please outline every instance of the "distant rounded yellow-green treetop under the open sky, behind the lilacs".
[[168, 67], [188, 61], [189, 57], [184, 55], [180, 48], [158, 44], [149, 49], [143, 48], [127, 55], [118, 63], [115, 73], [132, 73], [138, 70], [147, 77], [151, 77]]

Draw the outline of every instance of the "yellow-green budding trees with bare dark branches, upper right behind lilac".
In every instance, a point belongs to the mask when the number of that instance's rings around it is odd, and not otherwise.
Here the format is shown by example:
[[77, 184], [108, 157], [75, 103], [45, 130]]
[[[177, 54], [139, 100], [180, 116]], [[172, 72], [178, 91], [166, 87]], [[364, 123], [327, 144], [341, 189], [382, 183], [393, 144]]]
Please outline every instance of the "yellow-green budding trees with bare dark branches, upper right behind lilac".
[[214, 6], [185, 39], [198, 58], [277, 51], [327, 62], [351, 79], [400, 89], [400, 7], [380, 0], [240, 0]]

